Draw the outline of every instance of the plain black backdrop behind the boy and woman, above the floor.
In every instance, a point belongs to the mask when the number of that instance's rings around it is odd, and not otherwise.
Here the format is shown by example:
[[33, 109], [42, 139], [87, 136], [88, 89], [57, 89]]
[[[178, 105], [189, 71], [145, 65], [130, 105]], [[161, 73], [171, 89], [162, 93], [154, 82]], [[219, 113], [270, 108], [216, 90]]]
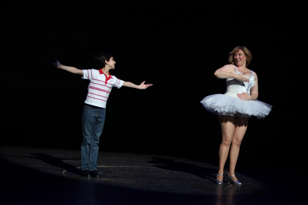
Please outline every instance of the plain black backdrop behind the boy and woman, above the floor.
[[242, 45], [253, 53], [258, 99], [273, 110], [251, 119], [239, 160], [290, 165], [305, 153], [292, 112], [303, 106], [293, 103], [302, 98], [301, 14], [275, 4], [10, 1], [0, 20], [1, 144], [79, 149], [88, 81], [50, 62], [88, 69], [95, 52], [108, 50], [112, 75], [153, 86], [112, 89], [100, 150], [217, 162], [218, 120], [199, 102], [225, 92], [214, 71]]

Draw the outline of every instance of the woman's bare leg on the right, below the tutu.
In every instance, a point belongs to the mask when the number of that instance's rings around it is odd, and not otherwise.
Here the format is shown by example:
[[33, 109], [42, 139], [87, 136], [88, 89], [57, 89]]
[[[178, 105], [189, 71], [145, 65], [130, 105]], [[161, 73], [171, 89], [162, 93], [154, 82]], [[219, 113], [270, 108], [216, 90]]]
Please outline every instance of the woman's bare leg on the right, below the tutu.
[[[232, 144], [230, 148], [230, 167], [229, 167], [229, 176], [235, 175], [235, 166], [240, 152], [240, 145], [247, 130], [248, 117], [237, 117], [237, 125], [234, 130], [232, 137]], [[233, 180], [237, 181], [236, 176], [232, 177]]]

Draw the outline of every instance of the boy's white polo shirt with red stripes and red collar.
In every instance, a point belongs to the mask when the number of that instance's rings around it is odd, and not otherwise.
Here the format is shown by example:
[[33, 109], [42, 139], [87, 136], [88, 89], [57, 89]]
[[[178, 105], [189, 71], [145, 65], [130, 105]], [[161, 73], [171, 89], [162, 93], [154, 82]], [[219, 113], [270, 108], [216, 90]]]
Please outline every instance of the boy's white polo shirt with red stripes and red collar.
[[102, 69], [83, 70], [83, 79], [89, 79], [88, 95], [85, 100], [86, 104], [106, 108], [107, 99], [112, 87], [121, 88], [124, 81], [113, 75], [108, 77]]

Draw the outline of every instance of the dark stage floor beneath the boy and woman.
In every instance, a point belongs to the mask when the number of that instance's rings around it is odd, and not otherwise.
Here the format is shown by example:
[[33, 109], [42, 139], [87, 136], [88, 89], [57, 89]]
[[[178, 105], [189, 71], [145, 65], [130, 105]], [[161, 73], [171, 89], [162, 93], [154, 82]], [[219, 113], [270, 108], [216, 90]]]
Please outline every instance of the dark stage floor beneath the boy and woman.
[[85, 178], [79, 175], [79, 150], [12, 146], [1, 146], [0, 150], [1, 204], [308, 202], [304, 197], [305, 186], [297, 181], [303, 173], [288, 173], [282, 178], [281, 170], [273, 173], [269, 169], [260, 175], [249, 175], [247, 170], [237, 173], [242, 186], [229, 185], [226, 181], [217, 186], [218, 168], [210, 163], [171, 156], [100, 152], [101, 177]]

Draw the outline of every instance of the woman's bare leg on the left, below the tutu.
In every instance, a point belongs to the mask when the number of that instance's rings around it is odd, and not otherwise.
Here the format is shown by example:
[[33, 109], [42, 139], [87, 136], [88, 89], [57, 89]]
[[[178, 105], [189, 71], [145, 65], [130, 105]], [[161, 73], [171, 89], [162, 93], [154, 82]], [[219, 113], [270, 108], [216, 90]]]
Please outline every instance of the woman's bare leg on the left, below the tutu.
[[[235, 117], [218, 115], [221, 125], [222, 141], [219, 148], [219, 170], [218, 174], [223, 174], [223, 168], [228, 157], [230, 144], [235, 131]], [[217, 180], [222, 180], [223, 176], [219, 175]]]

